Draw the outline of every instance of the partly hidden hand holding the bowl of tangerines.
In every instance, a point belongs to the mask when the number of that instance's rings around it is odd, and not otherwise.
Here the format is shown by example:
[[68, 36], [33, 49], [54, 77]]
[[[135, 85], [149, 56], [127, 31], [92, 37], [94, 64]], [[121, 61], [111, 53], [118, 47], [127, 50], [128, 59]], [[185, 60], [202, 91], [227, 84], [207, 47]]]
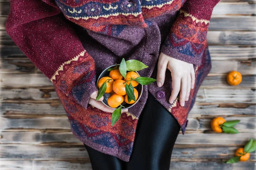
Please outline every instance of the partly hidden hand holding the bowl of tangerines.
[[[89, 99], [89, 104], [93, 105], [94, 107], [98, 108], [99, 110], [105, 111], [105, 112], [110, 112], [113, 113], [113, 111], [115, 111], [114, 109], [108, 108], [107, 106], [105, 106], [102, 103], [102, 100], [104, 99], [103, 96], [102, 98], [100, 98], [98, 101], [96, 100], [96, 96], [97, 96], [98, 91], [93, 92], [90, 95], [90, 99]], [[122, 110], [122, 112], [128, 112], [128, 109], [126, 110]]]

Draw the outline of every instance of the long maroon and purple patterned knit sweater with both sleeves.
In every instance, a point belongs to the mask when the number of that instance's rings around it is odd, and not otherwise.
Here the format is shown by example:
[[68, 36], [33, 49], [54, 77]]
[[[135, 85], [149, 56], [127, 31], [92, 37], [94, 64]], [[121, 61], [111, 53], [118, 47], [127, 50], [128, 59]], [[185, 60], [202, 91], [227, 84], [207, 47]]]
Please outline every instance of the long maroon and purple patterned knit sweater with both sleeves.
[[[6, 31], [20, 50], [53, 82], [72, 131], [90, 147], [129, 161], [135, 131], [148, 92], [177, 119], [184, 134], [189, 111], [211, 69], [207, 30], [219, 0], [11, 0]], [[163, 52], [192, 63], [196, 83], [189, 101], [168, 102], [172, 77], [161, 88], [145, 86], [139, 102], [111, 127], [111, 113], [88, 105], [96, 79], [122, 58], [149, 67], [156, 78]], [[165, 97], [158, 98], [157, 92]], [[153, 125], [152, 125], [153, 126]]]

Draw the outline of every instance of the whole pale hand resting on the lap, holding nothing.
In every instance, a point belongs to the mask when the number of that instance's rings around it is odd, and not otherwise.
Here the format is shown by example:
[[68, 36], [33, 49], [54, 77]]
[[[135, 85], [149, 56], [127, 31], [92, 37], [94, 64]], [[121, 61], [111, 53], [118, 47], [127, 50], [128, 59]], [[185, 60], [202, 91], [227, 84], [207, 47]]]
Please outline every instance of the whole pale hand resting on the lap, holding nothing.
[[189, 100], [190, 89], [195, 85], [195, 71], [193, 64], [169, 57], [161, 53], [157, 65], [157, 86], [161, 87], [165, 80], [166, 69], [172, 75], [172, 95], [169, 99], [173, 103], [180, 91], [180, 105], [184, 106]]

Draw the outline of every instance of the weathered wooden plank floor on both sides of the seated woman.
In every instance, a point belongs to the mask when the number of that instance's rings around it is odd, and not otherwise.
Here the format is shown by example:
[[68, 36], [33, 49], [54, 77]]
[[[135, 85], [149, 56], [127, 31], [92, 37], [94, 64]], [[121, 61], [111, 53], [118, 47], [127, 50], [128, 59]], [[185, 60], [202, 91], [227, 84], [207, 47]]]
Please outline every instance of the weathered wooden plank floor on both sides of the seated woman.
[[[9, 0], [0, 0], [0, 170], [91, 170], [52, 83], [5, 31]], [[178, 136], [171, 170], [256, 170], [256, 153], [245, 163], [224, 164], [236, 148], [256, 138], [256, 0], [222, 0], [213, 11], [208, 43], [212, 70]], [[230, 86], [227, 72], [243, 81]], [[239, 134], [216, 134], [216, 116], [241, 119]]]

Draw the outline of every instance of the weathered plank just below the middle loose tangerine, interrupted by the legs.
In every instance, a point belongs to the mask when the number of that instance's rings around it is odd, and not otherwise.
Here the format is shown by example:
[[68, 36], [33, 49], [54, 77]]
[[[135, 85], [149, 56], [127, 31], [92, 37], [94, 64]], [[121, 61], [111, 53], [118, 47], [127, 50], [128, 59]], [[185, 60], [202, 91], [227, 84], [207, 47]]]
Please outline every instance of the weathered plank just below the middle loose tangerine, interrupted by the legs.
[[[242, 125], [240, 125], [242, 126]], [[236, 128], [238, 128], [236, 126]], [[57, 144], [69, 143], [77, 145], [81, 143], [71, 130], [12, 130], [0, 131], [0, 144]], [[232, 137], [230, 137], [232, 136]], [[250, 138], [256, 138], [253, 132], [243, 132], [238, 134], [214, 133], [211, 130], [207, 131], [192, 131], [187, 130], [185, 135], [181, 132], [177, 137], [175, 144], [204, 144], [204, 145], [229, 145], [239, 146], [246, 144]]]

